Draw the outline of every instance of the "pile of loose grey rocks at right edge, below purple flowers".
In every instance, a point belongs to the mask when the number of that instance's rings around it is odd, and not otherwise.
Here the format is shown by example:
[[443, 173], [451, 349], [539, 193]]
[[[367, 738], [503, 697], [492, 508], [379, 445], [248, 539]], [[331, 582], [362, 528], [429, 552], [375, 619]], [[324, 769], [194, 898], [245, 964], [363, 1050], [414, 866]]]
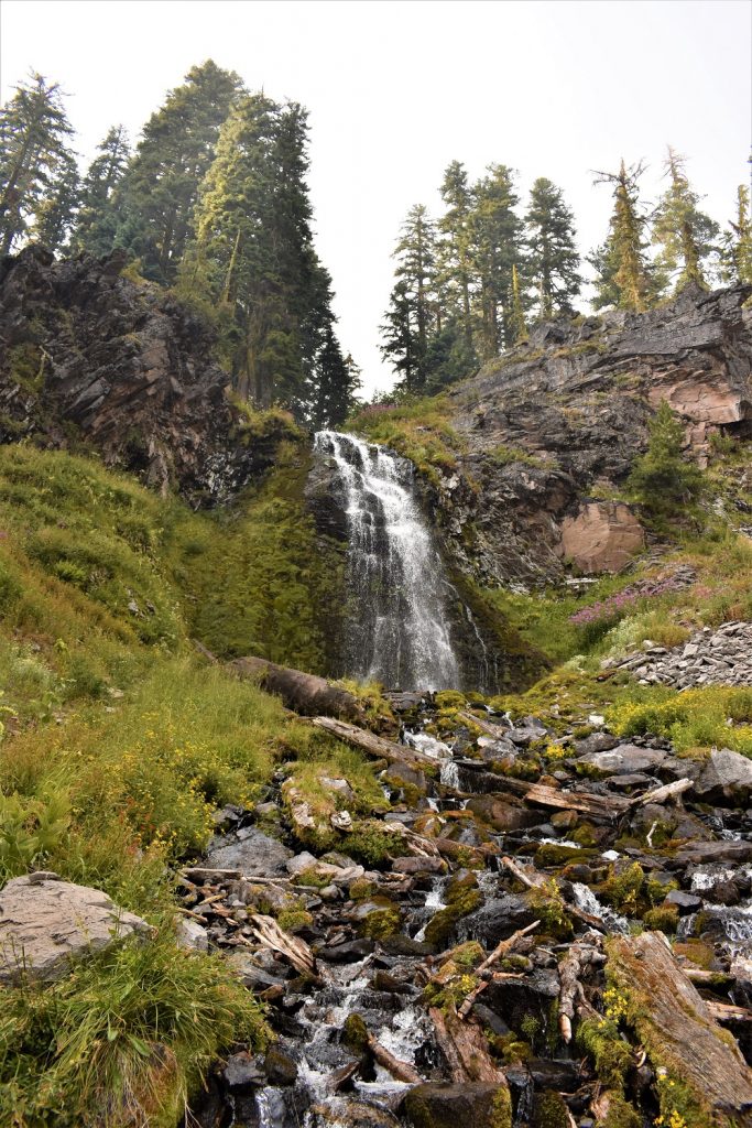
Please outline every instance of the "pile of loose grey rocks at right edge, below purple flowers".
[[629, 670], [642, 685], [752, 686], [752, 623], [724, 623], [717, 631], [704, 627], [673, 650], [646, 643], [642, 651], [601, 664]]

